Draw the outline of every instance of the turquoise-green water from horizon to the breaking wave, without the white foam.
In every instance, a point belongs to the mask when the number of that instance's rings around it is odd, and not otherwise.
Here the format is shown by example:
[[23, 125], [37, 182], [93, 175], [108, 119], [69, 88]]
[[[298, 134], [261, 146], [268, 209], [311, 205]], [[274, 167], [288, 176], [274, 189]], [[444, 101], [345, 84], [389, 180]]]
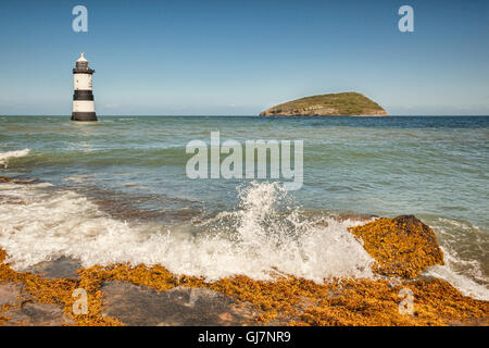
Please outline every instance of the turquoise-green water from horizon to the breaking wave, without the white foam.
[[[192, 154], [185, 149], [190, 140], [210, 142], [215, 130], [221, 133], [222, 142], [303, 140], [303, 186], [287, 194], [279, 185], [273, 188], [277, 191], [271, 199], [286, 201], [274, 208], [277, 214], [288, 209], [299, 211], [303, 220], [344, 212], [415, 214], [442, 240], [452, 258], [451, 271], [487, 286], [488, 116], [99, 119], [98, 123], [82, 124], [66, 116], [0, 117], [0, 152], [4, 156], [28, 149], [27, 153], [2, 160], [7, 167], [0, 169], [0, 175], [52, 185], [36, 184], [39, 192], [34, 196], [24, 185], [23, 195], [34, 200], [41, 195], [76, 194], [95, 203], [100, 214], [129, 226], [142, 228], [141, 224], [151, 222], [151, 231], [173, 233], [178, 226], [202, 235], [211, 228], [202, 227], [202, 222], [222, 213], [246, 211], [246, 197], [253, 195], [253, 188], [271, 188], [260, 186], [266, 184], [263, 181], [188, 178], [186, 163]], [[12, 192], [13, 188], [5, 188], [3, 195]], [[28, 217], [22, 221], [34, 224]], [[226, 227], [230, 235], [236, 229], [233, 226]], [[3, 244], [12, 238], [4, 238]], [[54, 249], [39, 252], [45, 258], [63, 252], [75, 256], [63, 247]], [[27, 251], [18, 252], [16, 260], [27, 264], [29, 257]], [[192, 266], [204, 268], [202, 263]]]

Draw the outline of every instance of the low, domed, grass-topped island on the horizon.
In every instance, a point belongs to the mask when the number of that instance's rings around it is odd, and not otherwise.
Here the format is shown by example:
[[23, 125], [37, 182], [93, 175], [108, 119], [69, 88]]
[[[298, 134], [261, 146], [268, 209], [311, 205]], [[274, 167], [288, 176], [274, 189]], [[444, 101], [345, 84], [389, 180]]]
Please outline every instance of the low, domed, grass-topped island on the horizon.
[[260, 116], [387, 116], [375, 101], [358, 92], [305, 97], [267, 109]]

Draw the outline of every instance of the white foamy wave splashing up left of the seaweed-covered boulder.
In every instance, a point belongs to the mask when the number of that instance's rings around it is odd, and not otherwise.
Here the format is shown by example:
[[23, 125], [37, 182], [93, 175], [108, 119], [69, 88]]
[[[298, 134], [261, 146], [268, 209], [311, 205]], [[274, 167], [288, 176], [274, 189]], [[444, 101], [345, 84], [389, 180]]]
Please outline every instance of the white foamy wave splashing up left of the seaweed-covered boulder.
[[318, 225], [301, 221], [293, 210], [280, 215], [275, 208], [286, 194], [274, 184], [244, 189], [239, 209], [221, 214], [217, 223], [204, 224], [197, 234], [189, 225], [167, 229], [158, 223], [126, 224], [72, 191], [2, 184], [0, 192], [26, 202], [0, 206], [0, 245], [16, 270], [65, 256], [85, 266], [162, 264], [209, 279], [234, 274], [267, 278], [271, 272], [319, 282], [373, 277], [374, 260], [347, 231], [356, 223], [326, 219], [327, 226]]

